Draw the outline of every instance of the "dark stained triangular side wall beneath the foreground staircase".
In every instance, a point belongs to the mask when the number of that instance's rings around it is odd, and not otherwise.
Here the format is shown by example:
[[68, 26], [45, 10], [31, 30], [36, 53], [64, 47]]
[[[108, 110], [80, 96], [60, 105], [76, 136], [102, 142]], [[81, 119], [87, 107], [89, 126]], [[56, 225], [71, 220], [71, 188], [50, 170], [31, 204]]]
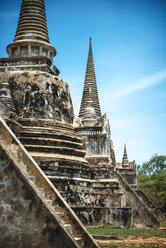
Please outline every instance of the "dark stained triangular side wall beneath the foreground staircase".
[[0, 149], [0, 247], [73, 247]]

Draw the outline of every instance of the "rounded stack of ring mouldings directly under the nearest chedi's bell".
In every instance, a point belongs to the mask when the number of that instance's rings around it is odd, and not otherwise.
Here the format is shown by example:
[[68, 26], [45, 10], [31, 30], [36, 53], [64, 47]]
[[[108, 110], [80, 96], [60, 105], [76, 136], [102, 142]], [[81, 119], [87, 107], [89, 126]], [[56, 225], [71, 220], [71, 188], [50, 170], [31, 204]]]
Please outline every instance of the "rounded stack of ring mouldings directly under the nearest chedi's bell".
[[20, 140], [48, 175], [75, 177], [86, 171], [81, 140], [69, 124], [22, 119]]

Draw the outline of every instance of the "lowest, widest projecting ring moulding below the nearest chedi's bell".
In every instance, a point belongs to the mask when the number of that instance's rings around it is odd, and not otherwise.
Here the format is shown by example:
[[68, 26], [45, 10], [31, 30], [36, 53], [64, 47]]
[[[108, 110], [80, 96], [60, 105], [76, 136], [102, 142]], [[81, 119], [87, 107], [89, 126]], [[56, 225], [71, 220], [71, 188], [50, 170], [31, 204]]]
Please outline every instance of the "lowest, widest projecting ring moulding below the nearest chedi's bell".
[[56, 146], [42, 146], [42, 145], [24, 145], [29, 152], [40, 152], [40, 153], [55, 153], [55, 154], [67, 154], [73, 156], [85, 156], [85, 151], [67, 148], [67, 147], [56, 147]]

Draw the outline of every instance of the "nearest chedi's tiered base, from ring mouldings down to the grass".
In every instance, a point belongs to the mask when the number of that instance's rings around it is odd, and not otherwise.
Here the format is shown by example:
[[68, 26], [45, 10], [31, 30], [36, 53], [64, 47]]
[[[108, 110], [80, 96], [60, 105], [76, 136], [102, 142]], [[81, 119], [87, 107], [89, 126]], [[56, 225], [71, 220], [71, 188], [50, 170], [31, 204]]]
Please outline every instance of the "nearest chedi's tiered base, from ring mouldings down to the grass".
[[[21, 123], [24, 147], [84, 224], [130, 226], [130, 209], [120, 207], [123, 197], [118, 181], [99, 179], [99, 168], [96, 171], [84, 159], [83, 144], [71, 125], [33, 119], [21, 119]], [[108, 172], [103, 167], [105, 178]], [[123, 218], [126, 215], [128, 221]]]

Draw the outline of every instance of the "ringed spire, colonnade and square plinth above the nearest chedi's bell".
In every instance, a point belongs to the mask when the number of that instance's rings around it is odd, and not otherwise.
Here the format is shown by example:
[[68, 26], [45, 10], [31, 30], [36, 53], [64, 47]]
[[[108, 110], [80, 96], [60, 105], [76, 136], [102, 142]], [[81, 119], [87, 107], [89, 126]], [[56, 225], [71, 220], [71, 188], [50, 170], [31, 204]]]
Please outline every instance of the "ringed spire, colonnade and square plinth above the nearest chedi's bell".
[[15, 70], [26, 68], [58, 75], [59, 71], [53, 65], [56, 49], [49, 42], [43, 0], [22, 1], [15, 38], [7, 46], [7, 53]]

